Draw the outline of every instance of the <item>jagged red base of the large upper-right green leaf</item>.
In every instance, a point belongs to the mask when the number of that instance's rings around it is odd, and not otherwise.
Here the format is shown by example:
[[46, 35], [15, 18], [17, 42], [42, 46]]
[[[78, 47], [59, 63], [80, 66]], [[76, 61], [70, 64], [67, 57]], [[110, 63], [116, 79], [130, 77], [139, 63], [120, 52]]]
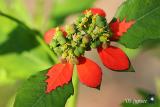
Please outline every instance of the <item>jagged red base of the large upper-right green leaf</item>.
[[126, 19], [122, 22], [117, 19], [116, 22], [110, 23], [110, 28], [113, 32], [112, 40], [118, 40], [134, 23], [135, 21], [126, 22]]

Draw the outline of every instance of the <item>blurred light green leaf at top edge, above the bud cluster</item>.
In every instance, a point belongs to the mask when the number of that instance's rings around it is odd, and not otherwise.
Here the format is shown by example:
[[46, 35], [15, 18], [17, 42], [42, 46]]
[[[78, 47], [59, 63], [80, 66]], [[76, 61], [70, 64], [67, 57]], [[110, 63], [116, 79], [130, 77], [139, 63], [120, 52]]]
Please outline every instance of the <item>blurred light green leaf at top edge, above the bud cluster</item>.
[[68, 15], [90, 8], [96, 0], [55, 0], [52, 14], [52, 26], [61, 25]]

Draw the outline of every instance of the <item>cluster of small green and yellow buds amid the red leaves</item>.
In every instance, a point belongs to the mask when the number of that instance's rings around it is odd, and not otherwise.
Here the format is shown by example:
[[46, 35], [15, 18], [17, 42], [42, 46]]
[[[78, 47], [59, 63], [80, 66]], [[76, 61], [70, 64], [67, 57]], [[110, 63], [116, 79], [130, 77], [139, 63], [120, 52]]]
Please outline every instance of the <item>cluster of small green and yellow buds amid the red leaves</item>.
[[81, 15], [71, 25], [65, 28], [67, 35], [60, 28], [50, 43], [52, 50], [61, 57], [62, 61], [78, 64], [78, 57], [85, 51], [110, 43], [111, 32], [105, 17], [94, 15], [91, 11]]

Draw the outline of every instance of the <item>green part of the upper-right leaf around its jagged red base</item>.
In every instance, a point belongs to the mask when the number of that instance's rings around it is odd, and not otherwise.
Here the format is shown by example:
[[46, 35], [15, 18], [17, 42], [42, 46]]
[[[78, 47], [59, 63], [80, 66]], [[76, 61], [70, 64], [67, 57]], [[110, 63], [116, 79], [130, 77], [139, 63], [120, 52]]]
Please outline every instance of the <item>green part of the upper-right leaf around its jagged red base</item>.
[[116, 18], [136, 21], [119, 41], [128, 48], [160, 38], [160, 0], [127, 0], [118, 9]]

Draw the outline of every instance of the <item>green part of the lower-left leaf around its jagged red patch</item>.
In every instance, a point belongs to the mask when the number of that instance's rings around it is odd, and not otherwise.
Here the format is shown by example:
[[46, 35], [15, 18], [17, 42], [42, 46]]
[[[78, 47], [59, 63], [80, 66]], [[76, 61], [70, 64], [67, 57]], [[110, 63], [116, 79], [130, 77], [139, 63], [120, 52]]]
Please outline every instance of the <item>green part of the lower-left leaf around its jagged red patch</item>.
[[67, 99], [73, 94], [73, 85], [58, 87], [49, 94], [46, 90], [46, 73], [48, 70], [31, 76], [19, 89], [14, 107], [64, 107]]

